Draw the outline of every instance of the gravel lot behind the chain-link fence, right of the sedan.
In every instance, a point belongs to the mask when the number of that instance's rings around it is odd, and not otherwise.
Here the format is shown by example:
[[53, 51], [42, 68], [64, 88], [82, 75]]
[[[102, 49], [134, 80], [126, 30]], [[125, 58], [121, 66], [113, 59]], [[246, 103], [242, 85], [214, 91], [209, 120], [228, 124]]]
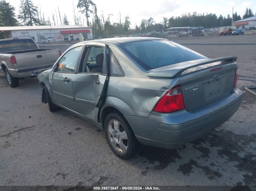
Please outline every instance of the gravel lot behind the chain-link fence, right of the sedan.
[[[256, 34], [170, 38], [177, 43], [256, 43]], [[239, 77], [256, 81], [256, 45], [184, 45], [208, 58], [237, 56]]]

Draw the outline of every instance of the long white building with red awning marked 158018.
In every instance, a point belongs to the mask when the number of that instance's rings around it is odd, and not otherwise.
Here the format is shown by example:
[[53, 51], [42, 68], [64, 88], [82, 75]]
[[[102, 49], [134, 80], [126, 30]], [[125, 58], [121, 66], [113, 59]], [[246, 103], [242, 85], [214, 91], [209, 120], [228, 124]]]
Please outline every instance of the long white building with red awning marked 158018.
[[[80, 32], [85, 40], [93, 39], [92, 27], [70, 25], [0, 27], [0, 32], [4, 33], [5, 39], [30, 37], [39, 44], [44, 44], [46, 37], [54, 37], [56, 41], [71, 42], [78, 38], [78, 33]], [[48, 41], [46, 43], [48, 43]]]

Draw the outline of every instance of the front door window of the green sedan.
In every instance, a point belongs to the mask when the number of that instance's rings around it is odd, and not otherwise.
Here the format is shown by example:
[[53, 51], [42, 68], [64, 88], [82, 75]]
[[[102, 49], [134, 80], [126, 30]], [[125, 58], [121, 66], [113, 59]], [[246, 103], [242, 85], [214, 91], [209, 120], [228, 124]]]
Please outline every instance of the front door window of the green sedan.
[[65, 53], [58, 62], [59, 72], [75, 72], [75, 64], [82, 46], [75, 47]]

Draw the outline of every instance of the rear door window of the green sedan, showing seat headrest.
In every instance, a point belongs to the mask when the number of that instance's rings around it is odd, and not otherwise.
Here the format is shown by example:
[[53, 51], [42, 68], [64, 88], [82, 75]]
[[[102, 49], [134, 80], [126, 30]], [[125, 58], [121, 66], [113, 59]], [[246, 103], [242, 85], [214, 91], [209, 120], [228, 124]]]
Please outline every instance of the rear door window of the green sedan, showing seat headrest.
[[87, 46], [78, 72], [102, 73], [104, 53], [102, 46]]

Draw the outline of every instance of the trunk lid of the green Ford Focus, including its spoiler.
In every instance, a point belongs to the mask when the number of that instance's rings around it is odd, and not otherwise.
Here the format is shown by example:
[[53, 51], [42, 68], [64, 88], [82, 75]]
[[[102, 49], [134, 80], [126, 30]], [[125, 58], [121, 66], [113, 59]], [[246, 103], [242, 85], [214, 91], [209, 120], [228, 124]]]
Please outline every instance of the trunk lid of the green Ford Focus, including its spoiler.
[[229, 94], [233, 89], [236, 57], [201, 59], [156, 68], [150, 77], [179, 78], [185, 109], [193, 110], [214, 102]]

